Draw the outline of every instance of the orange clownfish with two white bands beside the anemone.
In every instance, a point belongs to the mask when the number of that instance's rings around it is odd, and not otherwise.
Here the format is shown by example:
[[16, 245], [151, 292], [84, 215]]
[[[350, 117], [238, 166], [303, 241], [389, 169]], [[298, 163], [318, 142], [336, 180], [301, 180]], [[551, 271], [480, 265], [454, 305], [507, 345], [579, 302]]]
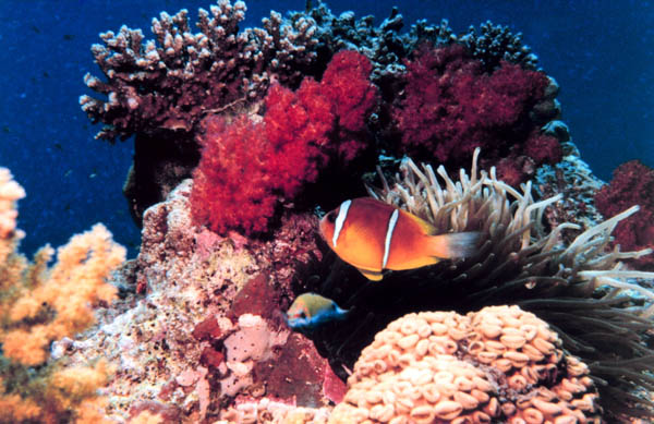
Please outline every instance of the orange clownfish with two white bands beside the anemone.
[[320, 220], [329, 247], [374, 281], [384, 269], [420, 268], [476, 252], [479, 232], [437, 232], [415, 215], [372, 197], [346, 201]]

